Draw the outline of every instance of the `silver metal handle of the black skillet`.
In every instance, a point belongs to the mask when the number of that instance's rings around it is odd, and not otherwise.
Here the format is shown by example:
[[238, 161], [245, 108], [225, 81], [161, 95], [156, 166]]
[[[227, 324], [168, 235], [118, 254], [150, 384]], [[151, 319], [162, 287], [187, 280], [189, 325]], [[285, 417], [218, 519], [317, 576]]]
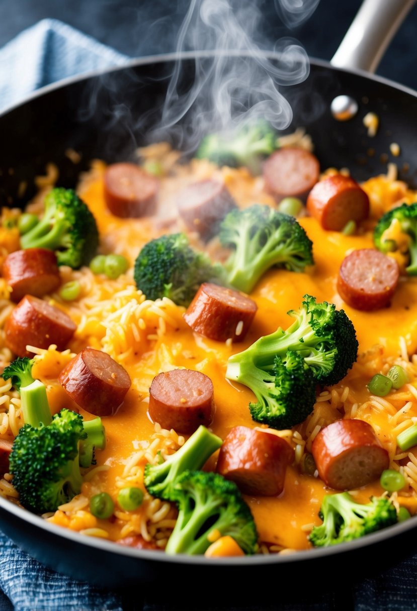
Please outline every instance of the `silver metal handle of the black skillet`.
[[374, 73], [414, 3], [415, 0], [364, 0], [330, 63]]

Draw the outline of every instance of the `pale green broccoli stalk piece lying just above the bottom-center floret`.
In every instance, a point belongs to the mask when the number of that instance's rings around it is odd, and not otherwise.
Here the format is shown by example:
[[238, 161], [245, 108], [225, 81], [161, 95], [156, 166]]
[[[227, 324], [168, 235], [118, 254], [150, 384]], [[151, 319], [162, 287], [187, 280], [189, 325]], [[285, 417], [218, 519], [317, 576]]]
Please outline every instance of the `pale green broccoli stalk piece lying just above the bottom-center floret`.
[[144, 483], [152, 496], [169, 500], [172, 485], [178, 475], [185, 470], [201, 469], [213, 452], [220, 448], [223, 441], [210, 433], [205, 426], [199, 426], [185, 444], [166, 461], [158, 464], [147, 463]]

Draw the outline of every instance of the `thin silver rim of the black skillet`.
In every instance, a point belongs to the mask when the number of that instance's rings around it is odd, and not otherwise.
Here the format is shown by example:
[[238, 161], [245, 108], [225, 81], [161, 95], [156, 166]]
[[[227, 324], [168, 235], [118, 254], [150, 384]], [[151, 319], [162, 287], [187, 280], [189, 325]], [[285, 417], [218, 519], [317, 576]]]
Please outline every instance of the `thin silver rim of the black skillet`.
[[[268, 59], [279, 59], [279, 54], [274, 53], [272, 51], [260, 51], [262, 56], [267, 57]], [[26, 97], [24, 97], [18, 103], [13, 103], [10, 106], [7, 106], [6, 109], [3, 109], [0, 112], [0, 119], [2, 119], [5, 115], [9, 114], [9, 112], [14, 111], [15, 109], [23, 106], [26, 103], [29, 103], [32, 100], [43, 97], [50, 92], [53, 92], [57, 89], [65, 89], [67, 86], [71, 86], [72, 84], [81, 83], [83, 81], [88, 81], [92, 78], [97, 78], [100, 76], [109, 75], [111, 73], [116, 73], [120, 70], [129, 70], [131, 68], [140, 67], [142, 65], [150, 65], [155, 63], [163, 63], [163, 62], [174, 62], [175, 60], [186, 60], [193, 59], [194, 57], [216, 57], [216, 56], [235, 56], [235, 57], [248, 57], [253, 58], [253, 54], [249, 52], [242, 52], [241, 50], [210, 50], [210, 51], [183, 51], [182, 53], [167, 53], [161, 55], [152, 55], [145, 56], [139, 58], [132, 58], [127, 60], [127, 62], [123, 65], [117, 65], [110, 68], [101, 68], [99, 70], [92, 70], [81, 75], [70, 76], [65, 79], [61, 79], [61, 81], [57, 81], [46, 85], [45, 87], [41, 87], [40, 89], [35, 90], [30, 93]], [[349, 75], [355, 75], [358, 77], [366, 78], [372, 82], [378, 82], [385, 86], [391, 87], [394, 90], [398, 90], [400, 92], [406, 93], [407, 95], [411, 95], [413, 98], [417, 98], [417, 90], [410, 89], [410, 87], [403, 86], [395, 81], [391, 81], [390, 79], [386, 79], [385, 77], [379, 75], [372, 75], [364, 70], [359, 69], [347, 69], [340, 68], [331, 65], [331, 62], [317, 59], [315, 57], [309, 57], [310, 65], [314, 65], [315, 67], [325, 68], [331, 71], [340, 71], [342, 73], [347, 73]], [[308, 78], [308, 76], [306, 77]], [[36, 514], [32, 514], [28, 510], [24, 508], [18, 507], [14, 503], [0, 496], [0, 509], [6, 511], [6, 513], [13, 514], [21, 521], [26, 524], [31, 524], [35, 526], [37, 529], [45, 530], [53, 536], [57, 536], [58, 538], [64, 538], [72, 541], [75, 544], [86, 545], [90, 548], [94, 548], [97, 550], [108, 552], [109, 554], [114, 554], [116, 556], [124, 556], [124, 557], [132, 557], [137, 558], [138, 560], [150, 560], [153, 563], [174, 563], [180, 565], [201, 565], [201, 566], [234, 566], [234, 567], [242, 567], [243, 566], [256, 566], [256, 565], [291, 565], [293, 563], [303, 563], [308, 562], [311, 563], [313, 560], [319, 560], [320, 558], [329, 558], [329, 557], [340, 557], [342, 554], [347, 554], [349, 552], [358, 552], [358, 550], [363, 548], [368, 548], [377, 545], [378, 543], [383, 543], [387, 540], [395, 539], [400, 535], [404, 535], [408, 531], [411, 531], [417, 527], [417, 516], [413, 516], [409, 520], [405, 522], [400, 522], [399, 524], [392, 525], [387, 529], [380, 530], [376, 533], [371, 533], [369, 535], [364, 536], [363, 538], [359, 538], [354, 541], [350, 541], [349, 543], [343, 543], [336, 546], [330, 547], [322, 547], [322, 548], [314, 548], [307, 549], [294, 552], [293, 554], [271, 554], [264, 555], [258, 554], [253, 556], [245, 556], [245, 557], [227, 557], [227, 558], [205, 558], [204, 556], [188, 556], [188, 555], [175, 555], [170, 556], [161, 552], [155, 554], [155, 551], [147, 551], [141, 549], [134, 549], [130, 547], [121, 546], [119, 544], [114, 543], [114, 541], [109, 541], [105, 539], [89, 537], [86, 535], [80, 535], [78, 532], [64, 529], [63, 527], [59, 527], [55, 524], [51, 524], [50, 522], [46, 522], [45, 519], [37, 516]], [[5, 533], [7, 535], [7, 532]], [[26, 535], [27, 537], [28, 535]], [[416, 546], [417, 549], [417, 546]]]

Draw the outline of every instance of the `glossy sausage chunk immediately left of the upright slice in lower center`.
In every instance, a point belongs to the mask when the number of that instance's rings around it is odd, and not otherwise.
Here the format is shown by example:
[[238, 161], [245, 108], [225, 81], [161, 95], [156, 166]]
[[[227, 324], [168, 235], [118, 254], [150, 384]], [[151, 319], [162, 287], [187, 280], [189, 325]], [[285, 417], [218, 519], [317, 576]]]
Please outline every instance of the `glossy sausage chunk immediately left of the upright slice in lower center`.
[[94, 348], [84, 348], [70, 360], [59, 382], [80, 408], [96, 416], [116, 413], [131, 384], [122, 365]]

